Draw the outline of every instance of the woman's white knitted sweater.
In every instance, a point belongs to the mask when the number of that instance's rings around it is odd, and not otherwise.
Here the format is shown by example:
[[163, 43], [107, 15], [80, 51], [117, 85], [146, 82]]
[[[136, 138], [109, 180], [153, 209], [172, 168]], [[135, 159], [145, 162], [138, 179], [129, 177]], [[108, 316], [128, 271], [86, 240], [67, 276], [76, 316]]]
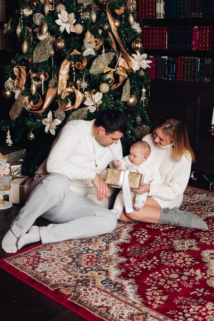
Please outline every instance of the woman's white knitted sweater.
[[183, 155], [180, 162], [172, 160], [172, 144], [159, 147], [154, 143], [153, 135], [143, 137], [151, 147], [151, 154], [157, 163], [161, 175], [160, 185], [151, 182], [148, 196], [152, 196], [161, 208], [179, 207], [183, 200], [183, 193], [188, 184], [191, 171], [191, 157]]

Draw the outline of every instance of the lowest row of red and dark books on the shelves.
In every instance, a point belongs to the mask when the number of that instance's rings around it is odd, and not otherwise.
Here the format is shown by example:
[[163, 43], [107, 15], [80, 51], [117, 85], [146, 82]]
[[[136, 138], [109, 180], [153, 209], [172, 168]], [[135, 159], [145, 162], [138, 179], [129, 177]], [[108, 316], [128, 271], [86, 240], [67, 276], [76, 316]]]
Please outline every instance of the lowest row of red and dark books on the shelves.
[[198, 57], [149, 57], [152, 79], [213, 83], [213, 59]]

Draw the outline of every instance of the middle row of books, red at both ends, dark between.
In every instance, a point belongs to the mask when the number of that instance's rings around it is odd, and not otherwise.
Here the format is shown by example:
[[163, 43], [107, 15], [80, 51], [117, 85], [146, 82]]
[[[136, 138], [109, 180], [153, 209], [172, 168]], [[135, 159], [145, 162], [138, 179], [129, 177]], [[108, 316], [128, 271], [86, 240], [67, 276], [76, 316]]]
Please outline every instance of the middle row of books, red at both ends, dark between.
[[144, 26], [144, 49], [212, 50], [213, 26]]

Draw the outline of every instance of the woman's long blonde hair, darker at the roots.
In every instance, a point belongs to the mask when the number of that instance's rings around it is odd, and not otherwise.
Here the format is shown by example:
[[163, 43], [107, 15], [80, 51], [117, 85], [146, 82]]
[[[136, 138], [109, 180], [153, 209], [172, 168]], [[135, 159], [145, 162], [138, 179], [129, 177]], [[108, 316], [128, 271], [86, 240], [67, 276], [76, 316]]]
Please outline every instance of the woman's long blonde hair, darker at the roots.
[[165, 116], [155, 123], [155, 128], [161, 128], [162, 132], [169, 136], [173, 143], [173, 160], [181, 160], [183, 155], [190, 155], [195, 161], [194, 152], [190, 146], [185, 124], [174, 116]]

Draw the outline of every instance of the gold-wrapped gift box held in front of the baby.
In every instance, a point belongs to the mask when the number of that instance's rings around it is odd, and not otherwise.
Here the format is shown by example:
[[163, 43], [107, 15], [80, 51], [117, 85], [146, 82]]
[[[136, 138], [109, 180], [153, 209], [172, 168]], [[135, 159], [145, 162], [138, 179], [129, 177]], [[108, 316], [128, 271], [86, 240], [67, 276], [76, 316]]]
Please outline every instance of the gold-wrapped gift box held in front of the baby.
[[[122, 187], [120, 184], [121, 175], [124, 174], [124, 171], [119, 169], [107, 168], [106, 170], [106, 184]], [[140, 184], [143, 183], [144, 175], [135, 172], [129, 172], [128, 174], [128, 183], [129, 188], [140, 189]]]

